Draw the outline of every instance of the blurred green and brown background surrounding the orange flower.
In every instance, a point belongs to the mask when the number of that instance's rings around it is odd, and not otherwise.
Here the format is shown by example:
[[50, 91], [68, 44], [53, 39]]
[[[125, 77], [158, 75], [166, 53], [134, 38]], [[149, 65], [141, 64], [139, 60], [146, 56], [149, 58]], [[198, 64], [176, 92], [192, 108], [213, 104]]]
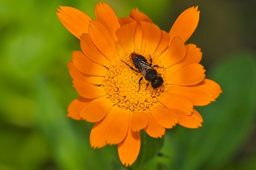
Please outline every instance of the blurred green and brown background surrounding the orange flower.
[[[197, 108], [200, 129], [177, 125], [163, 140], [142, 132], [142, 153], [130, 169], [256, 169], [256, 1], [105, 2], [118, 17], [138, 7], [166, 31], [198, 5], [198, 28], [187, 43], [202, 49], [207, 78], [223, 90], [216, 102]], [[116, 146], [90, 148], [92, 123], [66, 117], [78, 97], [66, 64], [80, 46], [56, 8], [72, 6], [94, 18], [96, 3], [0, 0], [0, 170], [124, 169]]]

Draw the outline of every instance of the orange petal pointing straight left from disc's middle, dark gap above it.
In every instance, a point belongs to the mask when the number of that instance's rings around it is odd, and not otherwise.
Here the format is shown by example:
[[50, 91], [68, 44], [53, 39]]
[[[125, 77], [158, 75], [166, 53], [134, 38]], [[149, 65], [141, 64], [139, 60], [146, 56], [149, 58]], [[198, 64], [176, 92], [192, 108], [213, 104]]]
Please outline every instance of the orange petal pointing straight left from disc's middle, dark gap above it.
[[74, 79], [73, 86], [76, 88], [78, 94], [84, 98], [93, 99], [106, 95], [106, 91], [103, 87], [89, 84], [84, 80]]

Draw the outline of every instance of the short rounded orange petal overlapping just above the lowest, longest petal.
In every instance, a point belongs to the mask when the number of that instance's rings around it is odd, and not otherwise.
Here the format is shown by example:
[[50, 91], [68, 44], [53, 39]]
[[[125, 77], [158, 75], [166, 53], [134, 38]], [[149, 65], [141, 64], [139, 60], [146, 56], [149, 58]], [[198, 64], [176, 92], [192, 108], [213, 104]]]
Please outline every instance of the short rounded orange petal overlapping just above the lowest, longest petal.
[[140, 131], [148, 125], [148, 118], [143, 111], [134, 111], [131, 117], [132, 131]]

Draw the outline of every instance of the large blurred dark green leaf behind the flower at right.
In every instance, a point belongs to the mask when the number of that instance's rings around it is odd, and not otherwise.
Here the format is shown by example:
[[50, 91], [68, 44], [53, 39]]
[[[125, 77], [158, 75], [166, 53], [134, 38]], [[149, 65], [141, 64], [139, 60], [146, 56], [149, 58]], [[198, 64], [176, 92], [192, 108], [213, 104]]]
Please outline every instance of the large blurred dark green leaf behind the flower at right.
[[176, 156], [171, 169], [220, 169], [230, 161], [252, 133], [256, 110], [255, 54], [231, 55], [214, 67], [210, 79], [222, 87], [216, 102], [196, 108], [203, 127], [176, 127], [173, 143]]

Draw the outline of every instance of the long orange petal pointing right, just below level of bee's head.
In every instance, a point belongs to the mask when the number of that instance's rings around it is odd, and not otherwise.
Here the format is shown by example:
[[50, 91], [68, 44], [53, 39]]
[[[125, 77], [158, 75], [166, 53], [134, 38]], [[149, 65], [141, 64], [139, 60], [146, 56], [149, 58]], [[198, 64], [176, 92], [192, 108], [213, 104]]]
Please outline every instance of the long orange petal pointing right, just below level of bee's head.
[[164, 92], [178, 94], [190, 100], [194, 106], [205, 106], [214, 101], [210, 92], [199, 87], [175, 86], [164, 89]]

